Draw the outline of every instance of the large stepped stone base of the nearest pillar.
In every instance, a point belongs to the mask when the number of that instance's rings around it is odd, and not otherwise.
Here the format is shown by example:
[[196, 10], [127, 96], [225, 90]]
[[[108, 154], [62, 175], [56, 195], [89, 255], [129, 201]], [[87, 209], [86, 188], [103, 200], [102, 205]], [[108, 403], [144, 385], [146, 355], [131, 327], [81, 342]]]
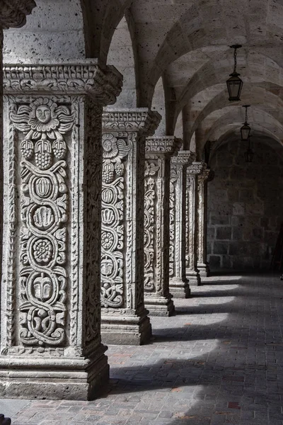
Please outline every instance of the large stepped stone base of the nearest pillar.
[[94, 399], [108, 384], [106, 348], [93, 358], [0, 356], [0, 398]]

